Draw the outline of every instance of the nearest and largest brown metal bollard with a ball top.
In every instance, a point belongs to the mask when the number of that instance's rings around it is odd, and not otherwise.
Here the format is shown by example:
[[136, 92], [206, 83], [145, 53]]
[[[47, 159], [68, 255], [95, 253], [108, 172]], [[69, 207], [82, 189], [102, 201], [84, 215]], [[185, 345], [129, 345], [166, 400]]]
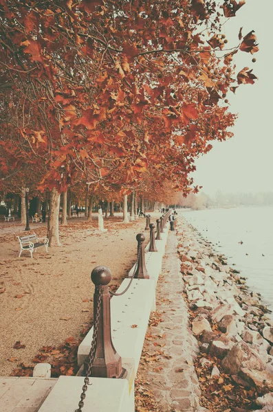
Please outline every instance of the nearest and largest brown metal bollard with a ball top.
[[[122, 368], [122, 358], [113, 346], [111, 338], [111, 311], [108, 284], [111, 281], [111, 271], [107, 266], [96, 266], [91, 272], [95, 285], [94, 319], [98, 308], [98, 295], [101, 290], [100, 316], [98, 318], [98, 338], [91, 375], [97, 378], [122, 378], [126, 369]], [[94, 325], [94, 332], [95, 332]]]

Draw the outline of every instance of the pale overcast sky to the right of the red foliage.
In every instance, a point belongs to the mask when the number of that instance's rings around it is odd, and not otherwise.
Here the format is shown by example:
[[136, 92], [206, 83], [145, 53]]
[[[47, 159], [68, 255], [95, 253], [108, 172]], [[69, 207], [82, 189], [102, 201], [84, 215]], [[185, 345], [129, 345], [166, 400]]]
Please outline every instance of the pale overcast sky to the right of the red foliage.
[[[238, 43], [240, 27], [243, 36], [255, 30], [259, 52], [253, 56], [239, 52], [234, 61], [237, 72], [253, 68], [259, 78], [256, 84], [241, 84], [236, 94], [228, 94], [230, 111], [239, 119], [232, 132], [234, 137], [215, 142], [212, 150], [197, 159], [195, 184], [204, 192], [261, 192], [273, 191], [273, 0], [246, 0], [237, 16], [226, 23], [224, 33], [228, 46]], [[233, 40], [232, 40], [233, 38]]]

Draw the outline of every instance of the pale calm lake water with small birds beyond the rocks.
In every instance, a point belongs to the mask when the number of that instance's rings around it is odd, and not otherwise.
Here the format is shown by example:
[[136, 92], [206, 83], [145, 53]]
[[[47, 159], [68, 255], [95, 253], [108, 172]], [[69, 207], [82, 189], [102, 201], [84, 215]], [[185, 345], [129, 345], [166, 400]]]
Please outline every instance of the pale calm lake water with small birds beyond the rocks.
[[180, 211], [273, 310], [273, 206]]

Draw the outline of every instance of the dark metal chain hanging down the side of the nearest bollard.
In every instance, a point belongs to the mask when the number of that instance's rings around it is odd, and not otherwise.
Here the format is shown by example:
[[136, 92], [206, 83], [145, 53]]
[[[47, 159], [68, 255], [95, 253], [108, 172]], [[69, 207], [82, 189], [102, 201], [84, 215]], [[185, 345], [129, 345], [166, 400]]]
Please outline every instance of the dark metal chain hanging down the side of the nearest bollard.
[[91, 367], [94, 363], [94, 358], [96, 354], [96, 347], [97, 347], [97, 340], [98, 340], [98, 319], [100, 317], [100, 310], [101, 310], [101, 288], [99, 286], [98, 290], [98, 302], [97, 302], [97, 310], [96, 310], [96, 317], [94, 319], [94, 330], [93, 330], [93, 339], [91, 343], [91, 348], [89, 352], [89, 361], [88, 361], [88, 367], [87, 367], [87, 373], [86, 377], [84, 380], [84, 385], [83, 385], [83, 392], [80, 395], [80, 402], [78, 402], [78, 409], [76, 409], [75, 412], [82, 412], [83, 411], [83, 405], [84, 405], [84, 400], [86, 396], [86, 391], [87, 391], [87, 385], [89, 385], [89, 376], [91, 374]]

